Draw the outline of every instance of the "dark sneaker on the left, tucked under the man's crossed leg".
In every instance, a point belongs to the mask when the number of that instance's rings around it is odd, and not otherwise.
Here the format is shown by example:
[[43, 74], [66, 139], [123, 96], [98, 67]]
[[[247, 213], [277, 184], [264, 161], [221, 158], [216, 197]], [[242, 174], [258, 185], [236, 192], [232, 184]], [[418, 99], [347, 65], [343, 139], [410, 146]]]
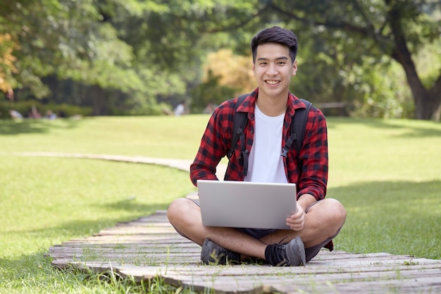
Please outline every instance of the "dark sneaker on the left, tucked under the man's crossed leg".
[[240, 254], [225, 249], [209, 239], [205, 239], [201, 250], [201, 261], [204, 264], [240, 263]]

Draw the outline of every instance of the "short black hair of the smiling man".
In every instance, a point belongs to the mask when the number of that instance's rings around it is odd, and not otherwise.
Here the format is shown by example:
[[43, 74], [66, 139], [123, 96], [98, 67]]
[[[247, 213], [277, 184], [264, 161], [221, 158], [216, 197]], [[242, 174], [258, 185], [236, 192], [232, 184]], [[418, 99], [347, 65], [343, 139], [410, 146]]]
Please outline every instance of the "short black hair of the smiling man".
[[251, 40], [251, 52], [253, 53], [253, 63], [256, 62], [257, 47], [262, 44], [276, 43], [290, 49], [291, 62], [294, 63], [299, 49], [297, 36], [290, 30], [282, 27], [269, 27], [258, 32]]

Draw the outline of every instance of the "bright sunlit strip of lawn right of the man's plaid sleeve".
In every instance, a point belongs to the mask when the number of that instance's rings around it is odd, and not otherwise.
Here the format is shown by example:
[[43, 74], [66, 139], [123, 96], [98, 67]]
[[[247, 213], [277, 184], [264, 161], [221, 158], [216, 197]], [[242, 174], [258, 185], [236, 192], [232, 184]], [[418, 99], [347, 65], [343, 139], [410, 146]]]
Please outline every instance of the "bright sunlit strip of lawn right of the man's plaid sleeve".
[[328, 125], [330, 187], [441, 177], [439, 123], [330, 118]]

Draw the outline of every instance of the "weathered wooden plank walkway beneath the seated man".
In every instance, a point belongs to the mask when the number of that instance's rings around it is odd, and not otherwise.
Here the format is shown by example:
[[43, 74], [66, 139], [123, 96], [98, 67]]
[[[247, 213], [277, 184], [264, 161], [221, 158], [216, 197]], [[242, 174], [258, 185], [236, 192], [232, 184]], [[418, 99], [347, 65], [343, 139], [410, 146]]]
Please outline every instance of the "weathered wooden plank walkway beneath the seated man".
[[441, 260], [321, 251], [305, 267], [204, 266], [200, 247], [175, 233], [165, 212], [118, 223], [49, 249], [54, 266], [161, 277], [201, 293], [441, 293]]

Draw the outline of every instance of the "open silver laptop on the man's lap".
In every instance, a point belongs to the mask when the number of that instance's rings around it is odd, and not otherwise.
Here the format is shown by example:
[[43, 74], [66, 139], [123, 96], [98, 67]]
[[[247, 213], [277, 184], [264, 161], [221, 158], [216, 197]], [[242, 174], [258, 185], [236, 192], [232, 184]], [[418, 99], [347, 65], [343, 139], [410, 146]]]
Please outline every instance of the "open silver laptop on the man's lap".
[[289, 229], [296, 212], [296, 185], [197, 180], [204, 226]]

